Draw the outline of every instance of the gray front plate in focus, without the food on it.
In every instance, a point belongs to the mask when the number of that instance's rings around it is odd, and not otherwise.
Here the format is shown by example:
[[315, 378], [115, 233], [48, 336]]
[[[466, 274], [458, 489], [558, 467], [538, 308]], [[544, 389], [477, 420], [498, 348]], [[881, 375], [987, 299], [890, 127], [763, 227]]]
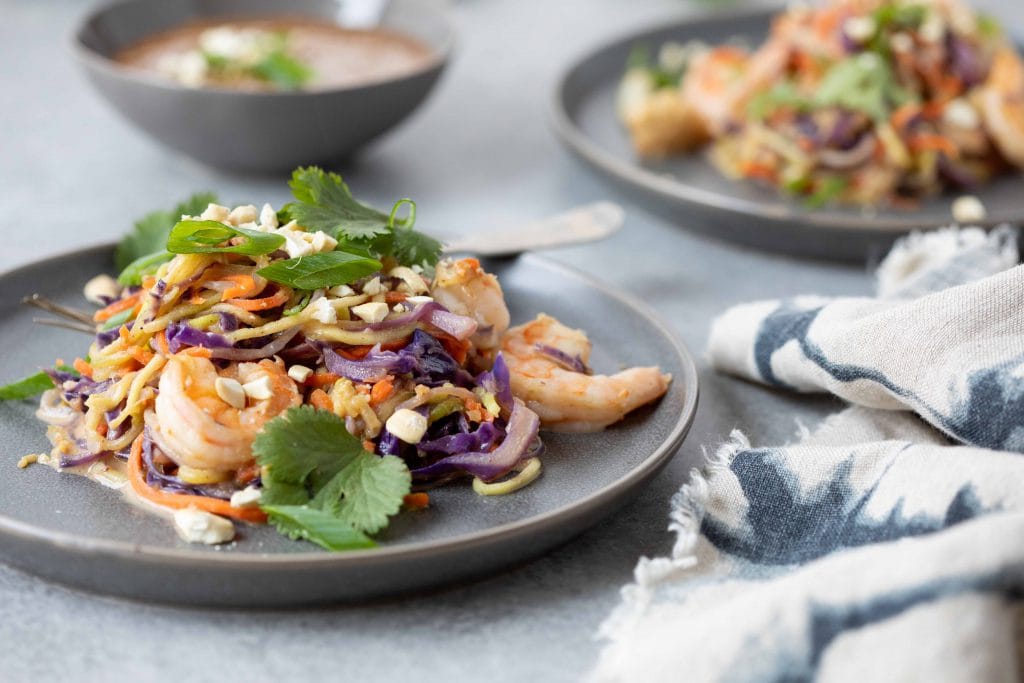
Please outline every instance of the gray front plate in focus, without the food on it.
[[[82, 354], [88, 339], [33, 325], [32, 292], [84, 307], [82, 284], [111, 269], [111, 249], [41, 261], [0, 276], [0, 381]], [[84, 477], [35, 465], [48, 450], [29, 402], [0, 403], [0, 559], [41, 577], [131, 598], [203, 605], [294, 605], [422, 590], [536, 557], [612, 513], [672, 458], [696, 411], [697, 376], [682, 343], [643, 304], [537, 257], [495, 261], [513, 321], [545, 311], [591, 333], [593, 365], [659, 365], [668, 394], [600, 434], [546, 434], [544, 475], [507, 497], [465, 484], [402, 513], [379, 548], [328, 553], [265, 527], [224, 548], [189, 546], [171, 525]]]

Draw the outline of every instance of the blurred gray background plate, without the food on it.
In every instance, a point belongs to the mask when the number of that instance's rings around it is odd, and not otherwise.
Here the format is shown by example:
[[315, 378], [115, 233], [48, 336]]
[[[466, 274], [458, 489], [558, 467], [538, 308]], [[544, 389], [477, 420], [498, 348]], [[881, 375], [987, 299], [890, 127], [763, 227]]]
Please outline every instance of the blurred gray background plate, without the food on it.
[[[555, 90], [556, 132], [591, 168], [644, 206], [681, 226], [759, 249], [862, 261], [884, 254], [908, 230], [948, 224], [952, 196], [931, 199], [914, 211], [812, 211], [770, 188], [729, 180], [700, 154], [659, 162], [636, 158], [614, 111], [615, 88], [633, 46], [656, 48], [669, 40], [695, 39], [716, 44], [737, 37], [758, 45], [773, 13], [745, 9], [665, 23], [587, 54], [568, 69]], [[975, 191], [988, 209], [986, 224], [1024, 221], [1022, 191], [1020, 175], [1002, 176]]]

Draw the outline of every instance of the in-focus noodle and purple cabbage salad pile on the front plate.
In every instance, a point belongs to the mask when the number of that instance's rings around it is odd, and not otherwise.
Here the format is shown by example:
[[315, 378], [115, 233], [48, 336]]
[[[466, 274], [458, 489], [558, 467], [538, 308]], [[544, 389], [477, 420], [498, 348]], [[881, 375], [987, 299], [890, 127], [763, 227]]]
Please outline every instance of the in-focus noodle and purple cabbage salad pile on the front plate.
[[53, 450], [34, 459], [177, 511], [189, 541], [269, 521], [331, 550], [374, 545], [453, 478], [529, 483], [540, 419], [490, 318], [441, 303], [497, 280], [440, 260], [408, 200], [380, 212], [316, 168], [291, 187], [279, 211], [197, 196], [136, 224], [118, 280], [87, 287], [88, 351], [0, 389], [42, 391]]

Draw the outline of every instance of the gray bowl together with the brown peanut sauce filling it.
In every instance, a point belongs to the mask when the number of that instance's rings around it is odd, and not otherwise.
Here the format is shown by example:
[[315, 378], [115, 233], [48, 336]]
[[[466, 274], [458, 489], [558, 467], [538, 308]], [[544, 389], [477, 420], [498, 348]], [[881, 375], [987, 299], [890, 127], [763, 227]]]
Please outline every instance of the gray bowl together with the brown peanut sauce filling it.
[[[73, 53], [97, 92], [176, 154], [217, 168], [331, 165], [397, 125], [440, 77], [440, 0], [120, 0]], [[349, 22], [352, 8], [376, 9]]]

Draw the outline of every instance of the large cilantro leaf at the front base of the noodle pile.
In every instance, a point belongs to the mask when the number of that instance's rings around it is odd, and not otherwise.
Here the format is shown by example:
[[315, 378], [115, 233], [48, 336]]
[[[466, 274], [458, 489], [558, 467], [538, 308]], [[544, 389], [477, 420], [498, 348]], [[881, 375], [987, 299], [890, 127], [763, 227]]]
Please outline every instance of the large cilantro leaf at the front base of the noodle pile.
[[268, 422], [253, 454], [265, 468], [262, 507], [270, 521], [286, 535], [325, 547], [324, 535], [343, 527], [379, 531], [412, 485], [401, 459], [368, 453], [341, 418], [308, 405]]

